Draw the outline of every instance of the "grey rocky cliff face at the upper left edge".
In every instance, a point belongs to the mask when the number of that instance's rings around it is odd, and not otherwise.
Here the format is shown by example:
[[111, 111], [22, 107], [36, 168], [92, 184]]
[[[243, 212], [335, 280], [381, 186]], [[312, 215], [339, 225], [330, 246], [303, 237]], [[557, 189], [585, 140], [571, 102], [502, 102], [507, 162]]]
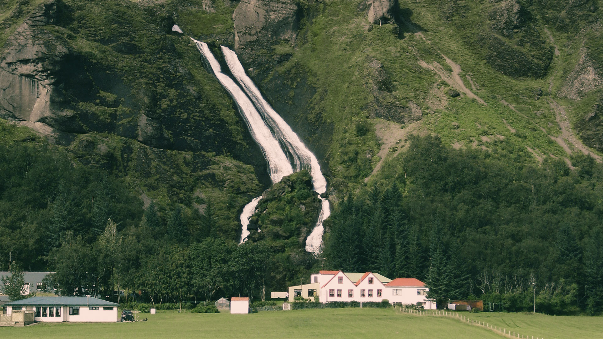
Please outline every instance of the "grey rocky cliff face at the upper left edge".
[[57, 0], [47, 0], [8, 38], [0, 59], [0, 115], [4, 118], [79, 130], [74, 116], [58, 106], [65, 97], [57, 74], [69, 54], [68, 43], [45, 30], [53, 24]]

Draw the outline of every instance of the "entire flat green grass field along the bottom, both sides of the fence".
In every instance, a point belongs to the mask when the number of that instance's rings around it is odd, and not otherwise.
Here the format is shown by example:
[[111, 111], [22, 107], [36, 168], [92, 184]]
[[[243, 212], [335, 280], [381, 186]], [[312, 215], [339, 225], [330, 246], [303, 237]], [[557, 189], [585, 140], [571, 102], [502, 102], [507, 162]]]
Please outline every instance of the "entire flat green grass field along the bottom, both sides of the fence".
[[[508, 325], [534, 338], [601, 338], [601, 317], [549, 317], [531, 314], [466, 314]], [[148, 322], [58, 323], [2, 328], [13, 338], [501, 338], [494, 332], [446, 317], [403, 314], [391, 309], [304, 309], [231, 315], [163, 311], [145, 314]]]

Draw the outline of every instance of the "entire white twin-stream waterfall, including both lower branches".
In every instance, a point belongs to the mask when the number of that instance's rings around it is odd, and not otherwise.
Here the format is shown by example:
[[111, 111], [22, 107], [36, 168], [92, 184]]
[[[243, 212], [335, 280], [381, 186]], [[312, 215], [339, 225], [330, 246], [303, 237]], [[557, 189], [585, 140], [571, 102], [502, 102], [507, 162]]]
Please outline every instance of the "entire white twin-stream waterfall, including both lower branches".
[[[172, 30], [183, 33], [177, 25], [174, 25]], [[218, 60], [215, 59], [206, 43], [192, 38], [191, 40], [195, 42], [203, 55], [207, 68], [213, 72], [219, 83], [235, 101], [239, 113], [249, 128], [251, 137], [259, 145], [267, 160], [271, 181], [277, 183], [283, 177], [301, 170], [308, 170], [310, 173], [314, 191], [318, 193], [318, 198], [321, 200], [321, 211], [316, 226], [306, 239], [306, 251], [317, 255], [321, 252], [323, 242], [323, 221], [330, 215], [329, 200], [321, 197], [321, 194], [327, 191], [327, 180], [320, 171], [318, 159], [262, 97], [259, 89], [245, 73], [245, 69], [234, 51], [220, 46], [230, 73], [238, 84], [222, 72]], [[261, 195], [254, 198], [243, 208], [241, 242], [245, 242], [250, 234], [247, 226], [261, 198]]]

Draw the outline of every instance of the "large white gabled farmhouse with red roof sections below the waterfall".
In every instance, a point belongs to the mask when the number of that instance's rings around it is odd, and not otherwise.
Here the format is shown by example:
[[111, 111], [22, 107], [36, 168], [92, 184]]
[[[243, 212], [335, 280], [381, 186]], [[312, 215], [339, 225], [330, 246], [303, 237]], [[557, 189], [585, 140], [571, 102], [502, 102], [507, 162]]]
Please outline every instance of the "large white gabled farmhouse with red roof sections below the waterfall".
[[310, 277], [311, 284], [289, 287], [289, 301], [304, 297], [313, 301], [314, 296], [327, 302], [381, 302], [412, 304], [435, 309], [435, 302], [427, 299], [429, 290], [415, 278], [394, 280], [379, 273], [345, 273], [343, 271], [319, 271]]

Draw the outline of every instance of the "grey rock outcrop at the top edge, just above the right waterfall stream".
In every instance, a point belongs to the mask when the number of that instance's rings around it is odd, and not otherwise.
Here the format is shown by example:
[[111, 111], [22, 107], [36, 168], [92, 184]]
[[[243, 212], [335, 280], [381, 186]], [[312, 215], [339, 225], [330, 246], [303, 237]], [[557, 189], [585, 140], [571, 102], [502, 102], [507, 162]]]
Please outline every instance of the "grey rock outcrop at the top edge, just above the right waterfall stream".
[[235, 50], [251, 60], [273, 45], [294, 43], [300, 27], [301, 8], [296, 0], [241, 0], [233, 13]]

